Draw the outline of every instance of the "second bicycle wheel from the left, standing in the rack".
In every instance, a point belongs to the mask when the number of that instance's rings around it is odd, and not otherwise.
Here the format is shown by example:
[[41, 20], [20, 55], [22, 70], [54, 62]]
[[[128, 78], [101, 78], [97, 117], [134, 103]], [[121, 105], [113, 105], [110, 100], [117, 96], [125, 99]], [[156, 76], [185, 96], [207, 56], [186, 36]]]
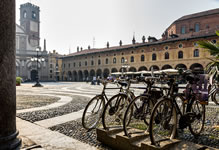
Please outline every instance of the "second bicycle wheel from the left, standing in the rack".
[[121, 93], [110, 98], [106, 103], [102, 117], [103, 128], [105, 130], [122, 127], [124, 113], [130, 101], [126, 94]]

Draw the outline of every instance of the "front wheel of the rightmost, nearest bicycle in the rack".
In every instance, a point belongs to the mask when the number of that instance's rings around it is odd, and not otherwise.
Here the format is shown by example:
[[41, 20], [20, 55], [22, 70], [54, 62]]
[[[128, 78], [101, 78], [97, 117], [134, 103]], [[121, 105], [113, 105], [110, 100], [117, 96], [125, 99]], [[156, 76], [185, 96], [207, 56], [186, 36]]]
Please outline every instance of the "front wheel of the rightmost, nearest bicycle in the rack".
[[160, 146], [162, 141], [175, 138], [177, 128], [176, 108], [171, 99], [157, 102], [151, 114], [149, 133], [152, 145]]

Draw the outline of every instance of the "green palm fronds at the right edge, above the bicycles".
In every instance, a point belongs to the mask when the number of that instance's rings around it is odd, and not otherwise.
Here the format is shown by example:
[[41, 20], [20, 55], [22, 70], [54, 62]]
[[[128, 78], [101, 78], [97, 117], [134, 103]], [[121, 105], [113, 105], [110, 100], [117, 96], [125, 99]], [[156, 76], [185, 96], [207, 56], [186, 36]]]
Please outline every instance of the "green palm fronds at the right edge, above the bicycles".
[[[216, 31], [217, 36], [219, 36], [219, 31]], [[207, 65], [207, 72], [210, 76], [214, 76], [218, 79], [219, 77], [219, 42], [212, 43], [210, 41], [199, 41], [199, 46], [210, 52], [214, 58], [208, 58], [211, 63]]]

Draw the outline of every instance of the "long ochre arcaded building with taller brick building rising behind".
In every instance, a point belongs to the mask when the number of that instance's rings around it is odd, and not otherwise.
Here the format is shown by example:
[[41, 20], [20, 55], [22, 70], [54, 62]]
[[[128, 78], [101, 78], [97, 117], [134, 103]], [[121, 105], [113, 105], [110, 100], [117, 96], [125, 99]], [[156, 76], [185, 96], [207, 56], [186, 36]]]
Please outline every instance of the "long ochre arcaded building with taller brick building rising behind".
[[213, 57], [199, 48], [197, 42], [219, 41], [215, 31], [219, 30], [219, 9], [186, 15], [174, 21], [162, 34], [161, 39], [142, 37], [137, 43], [86, 50], [77, 49], [76, 53], [63, 57], [62, 78], [83, 81], [94, 76], [106, 78], [112, 72], [122, 71], [126, 63], [127, 71], [160, 70], [168, 68], [195, 69], [204, 72], [209, 64], [207, 57]]

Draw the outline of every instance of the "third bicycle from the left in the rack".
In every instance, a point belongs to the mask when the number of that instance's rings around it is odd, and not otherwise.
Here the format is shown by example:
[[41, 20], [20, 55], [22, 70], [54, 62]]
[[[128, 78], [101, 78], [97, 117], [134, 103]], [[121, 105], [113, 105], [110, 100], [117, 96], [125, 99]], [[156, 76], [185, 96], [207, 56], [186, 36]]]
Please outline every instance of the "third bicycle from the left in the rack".
[[131, 137], [134, 134], [144, 134], [144, 130], [148, 129], [153, 106], [157, 99], [163, 96], [162, 90], [155, 90], [160, 87], [152, 87], [155, 81], [159, 79], [155, 77], [139, 79], [146, 87], [137, 87], [138, 89], [145, 89], [145, 91], [130, 102], [125, 112], [123, 130], [126, 136]]

